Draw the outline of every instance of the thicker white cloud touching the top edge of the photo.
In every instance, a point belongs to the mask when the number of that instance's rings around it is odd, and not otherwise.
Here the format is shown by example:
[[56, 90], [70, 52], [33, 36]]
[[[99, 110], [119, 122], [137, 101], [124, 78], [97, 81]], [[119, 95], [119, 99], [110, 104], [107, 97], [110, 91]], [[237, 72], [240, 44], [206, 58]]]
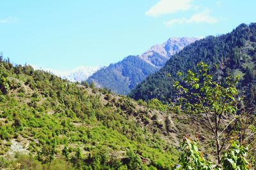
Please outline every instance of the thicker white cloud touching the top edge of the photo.
[[158, 17], [160, 15], [175, 13], [177, 11], [185, 11], [192, 8], [191, 0], [160, 0], [157, 4], [152, 6], [146, 15]]

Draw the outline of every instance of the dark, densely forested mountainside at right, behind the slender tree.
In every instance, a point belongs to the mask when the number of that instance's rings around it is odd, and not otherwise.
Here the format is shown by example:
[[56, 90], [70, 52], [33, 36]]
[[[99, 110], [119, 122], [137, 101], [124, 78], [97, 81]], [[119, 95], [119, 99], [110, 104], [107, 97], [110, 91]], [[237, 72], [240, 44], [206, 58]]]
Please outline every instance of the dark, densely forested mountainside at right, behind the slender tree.
[[186, 46], [173, 55], [162, 69], [143, 80], [130, 96], [143, 100], [175, 99], [173, 80], [181, 81], [177, 73], [180, 71], [186, 75], [189, 69], [196, 72], [196, 64], [200, 61], [208, 64], [216, 80], [223, 83], [227, 76], [233, 80], [239, 76], [238, 89], [246, 97], [253, 97], [256, 82], [256, 24], [241, 24], [228, 34], [208, 36]]

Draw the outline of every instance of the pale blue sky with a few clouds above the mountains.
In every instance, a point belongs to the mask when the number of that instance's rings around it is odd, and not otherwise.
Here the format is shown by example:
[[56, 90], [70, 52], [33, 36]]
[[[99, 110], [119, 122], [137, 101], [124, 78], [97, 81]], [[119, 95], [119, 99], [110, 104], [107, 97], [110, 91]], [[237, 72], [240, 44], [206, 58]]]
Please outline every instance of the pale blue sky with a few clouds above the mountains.
[[16, 64], [108, 66], [175, 36], [256, 22], [255, 0], [2, 0], [0, 51]]

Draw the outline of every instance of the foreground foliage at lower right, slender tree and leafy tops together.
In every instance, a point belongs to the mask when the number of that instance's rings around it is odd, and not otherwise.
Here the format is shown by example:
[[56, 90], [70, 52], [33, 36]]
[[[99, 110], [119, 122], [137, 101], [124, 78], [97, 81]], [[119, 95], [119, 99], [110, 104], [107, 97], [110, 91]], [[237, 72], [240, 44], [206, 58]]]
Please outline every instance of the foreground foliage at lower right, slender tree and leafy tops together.
[[[248, 160], [248, 147], [245, 143], [255, 134], [248, 128], [253, 127], [250, 122], [252, 110], [248, 111], [237, 97], [236, 81], [228, 78], [226, 83], [214, 81], [207, 64], [200, 62], [198, 67], [198, 73], [188, 71], [182, 83], [175, 82], [180, 92], [176, 104], [193, 120], [204, 125], [205, 132], [208, 130], [211, 133], [211, 136], [204, 138], [214, 141], [212, 147], [216, 150], [216, 163], [205, 159], [196, 141], [185, 138], [178, 169], [250, 169], [253, 160]], [[182, 76], [182, 73], [178, 74]]]

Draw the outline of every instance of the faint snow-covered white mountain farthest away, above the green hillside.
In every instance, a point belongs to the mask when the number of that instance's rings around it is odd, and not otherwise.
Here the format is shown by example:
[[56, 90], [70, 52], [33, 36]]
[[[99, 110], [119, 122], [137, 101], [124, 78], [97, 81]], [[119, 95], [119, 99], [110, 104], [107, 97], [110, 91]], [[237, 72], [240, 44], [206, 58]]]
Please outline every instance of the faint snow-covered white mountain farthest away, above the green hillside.
[[76, 67], [75, 69], [72, 69], [70, 71], [60, 71], [56, 69], [51, 68], [44, 68], [44, 67], [36, 67], [33, 66], [35, 69], [49, 71], [52, 74], [55, 74], [56, 76], [60, 76], [61, 78], [66, 78], [69, 81], [73, 82], [81, 82], [88, 79], [89, 76], [91, 76], [93, 73], [101, 69], [100, 66], [80, 66]]

